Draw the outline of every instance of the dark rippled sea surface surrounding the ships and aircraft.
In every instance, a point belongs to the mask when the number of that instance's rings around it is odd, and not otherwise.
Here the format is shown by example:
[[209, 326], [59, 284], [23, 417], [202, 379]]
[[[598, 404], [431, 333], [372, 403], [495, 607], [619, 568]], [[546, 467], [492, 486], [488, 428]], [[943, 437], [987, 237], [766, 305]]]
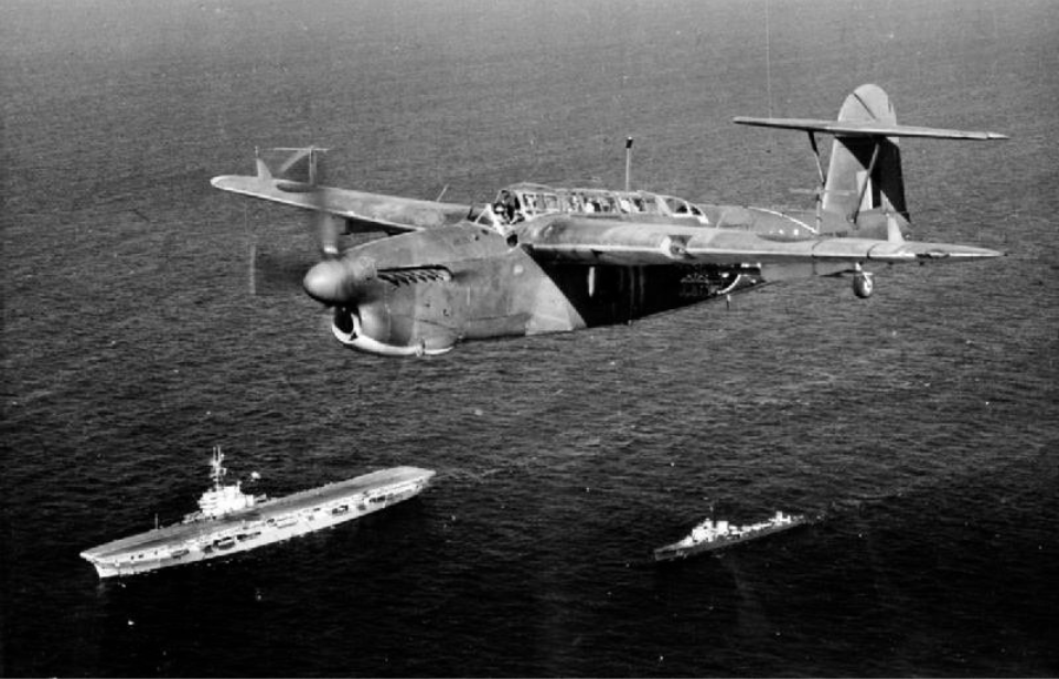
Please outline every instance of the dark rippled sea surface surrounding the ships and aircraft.
[[[211, 188], [314, 142], [329, 182], [532, 180], [803, 205], [862, 83], [911, 125], [923, 240], [1005, 251], [393, 360], [297, 277], [304, 215]], [[118, 0], [0, 4], [6, 676], [1056, 676], [1059, 4]], [[285, 285], [258, 267], [286, 269]], [[259, 279], [260, 278], [260, 279]], [[210, 449], [285, 495], [418, 499], [100, 582]], [[809, 528], [673, 567], [713, 512]]]

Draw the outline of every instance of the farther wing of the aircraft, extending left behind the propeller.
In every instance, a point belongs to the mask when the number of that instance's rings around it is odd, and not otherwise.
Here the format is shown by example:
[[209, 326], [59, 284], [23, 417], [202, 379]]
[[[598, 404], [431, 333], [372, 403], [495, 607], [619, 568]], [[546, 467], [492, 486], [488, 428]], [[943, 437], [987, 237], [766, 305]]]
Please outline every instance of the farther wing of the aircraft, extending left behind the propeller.
[[419, 231], [457, 223], [467, 218], [469, 205], [399, 198], [311, 185], [271, 177], [267, 169], [257, 177], [226, 174], [210, 180], [217, 189], [327, 212], [346, 221], [350, 231], [384, 231], [389, 234]]

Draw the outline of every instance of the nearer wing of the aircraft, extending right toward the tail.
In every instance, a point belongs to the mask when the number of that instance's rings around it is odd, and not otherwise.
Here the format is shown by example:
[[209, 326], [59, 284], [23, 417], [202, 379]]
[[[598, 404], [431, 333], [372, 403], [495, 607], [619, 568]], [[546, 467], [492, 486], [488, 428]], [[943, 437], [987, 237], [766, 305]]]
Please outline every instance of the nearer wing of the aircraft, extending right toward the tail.
[[[741, 229], [566, 216], [527, 225], [520, 233], [520, 242], [543, 261], [623, 266], [744, 265], [771, 272], [773, 280], [834, 274], [871, 262], [962, 262], [1002, 255], [948, 243], [827, 236], [769, 240]], [[768, 274], [766, 277], [770, 278]]]

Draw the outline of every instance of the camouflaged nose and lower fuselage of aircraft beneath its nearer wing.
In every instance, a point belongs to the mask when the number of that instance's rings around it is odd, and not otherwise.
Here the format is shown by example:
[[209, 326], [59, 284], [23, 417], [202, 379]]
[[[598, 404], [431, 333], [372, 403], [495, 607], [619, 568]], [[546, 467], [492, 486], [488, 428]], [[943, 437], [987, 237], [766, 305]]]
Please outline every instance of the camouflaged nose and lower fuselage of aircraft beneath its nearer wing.
[[343, 261], [362, 274], [335, 306], [334, 335], [387, 356], [627, 322], [762, 283], [744, 267], [541, 263], [471, 223], [373, 241]]

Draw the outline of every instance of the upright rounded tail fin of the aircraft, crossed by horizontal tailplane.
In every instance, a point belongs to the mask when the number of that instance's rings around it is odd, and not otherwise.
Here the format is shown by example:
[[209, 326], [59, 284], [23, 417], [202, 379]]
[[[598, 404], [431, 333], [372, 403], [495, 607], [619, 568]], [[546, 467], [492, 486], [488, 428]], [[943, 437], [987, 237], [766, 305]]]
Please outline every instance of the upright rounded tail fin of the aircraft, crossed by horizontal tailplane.
[[[860, 85], [838, 110], [838, 124], [843, 123], [896, 127], [897, 116], [881, 87]], [[881, 208], [908, 220], [898, 137], [836, 135], [823, 208], [846, 216]]]

